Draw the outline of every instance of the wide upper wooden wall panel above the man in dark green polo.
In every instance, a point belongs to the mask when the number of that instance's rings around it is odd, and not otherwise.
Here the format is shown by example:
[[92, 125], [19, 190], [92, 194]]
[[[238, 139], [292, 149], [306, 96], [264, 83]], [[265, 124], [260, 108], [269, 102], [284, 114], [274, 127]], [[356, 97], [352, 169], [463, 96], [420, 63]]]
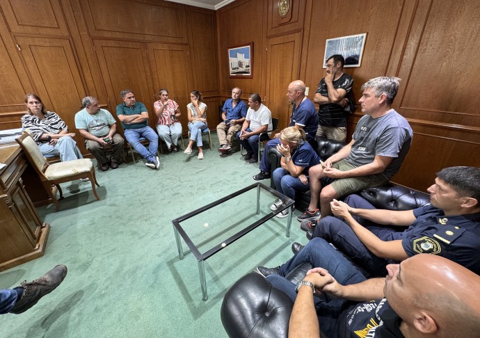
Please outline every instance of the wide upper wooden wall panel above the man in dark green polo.
[[81, 0], [93, 37], [188, 43], [182, 6], [168, 1]]

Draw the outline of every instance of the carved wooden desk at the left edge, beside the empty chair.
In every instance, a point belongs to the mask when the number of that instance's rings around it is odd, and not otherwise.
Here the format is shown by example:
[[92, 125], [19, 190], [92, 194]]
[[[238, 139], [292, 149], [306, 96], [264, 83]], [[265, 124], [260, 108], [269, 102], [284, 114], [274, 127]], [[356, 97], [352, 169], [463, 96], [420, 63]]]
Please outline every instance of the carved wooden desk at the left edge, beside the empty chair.
[[0, 146], [0, 271], [43, 256], [50, 230], [31, 197], [42, 204], [47, 193], [17, 144]]

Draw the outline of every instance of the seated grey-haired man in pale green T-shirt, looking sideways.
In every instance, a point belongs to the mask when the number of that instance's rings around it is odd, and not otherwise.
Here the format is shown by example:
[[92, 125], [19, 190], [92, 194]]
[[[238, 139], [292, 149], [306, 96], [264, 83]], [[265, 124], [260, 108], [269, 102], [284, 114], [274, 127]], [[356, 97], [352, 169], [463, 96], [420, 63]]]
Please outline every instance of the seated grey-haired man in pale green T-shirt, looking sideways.
[[[100, 170], [118, 168], [122, 161], [123, 138], [117, 134], [117, 124], [109, 111], [98, 106], [93, 96], [83, 97], [83, 109], [75, 114], [75, 127], [83, 138], [85, 146], [97, 159]], [[111, 149], [111, 161], [106, 157], [106, 150]]]

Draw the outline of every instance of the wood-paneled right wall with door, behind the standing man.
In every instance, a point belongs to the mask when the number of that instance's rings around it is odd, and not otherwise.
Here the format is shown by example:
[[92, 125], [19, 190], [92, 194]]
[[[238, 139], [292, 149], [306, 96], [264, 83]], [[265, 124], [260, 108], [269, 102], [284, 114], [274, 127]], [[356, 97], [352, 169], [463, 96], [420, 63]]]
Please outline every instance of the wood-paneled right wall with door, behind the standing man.
[[[273, 0], [237, 0], [217, 11], [221, 95], [233, 86], [259, 91], [280, 127], [286, 127], [289, 81], [305, 81], [312, 98], [325, 72], [326, 39], [367, 33], [361, 67], [345, 69], [355, 79], [355, 96], [361, 97], [368, 79], [401, 78], [393, 106], [414, 131], [410, 153], [392, 180], [426, 191], [441, 168], [480, 166], [475, 156], [480, 153], [478, 1], [289, 2], [284, 19]], [[239, 16], [245, 13], [239, 34]], [[253, 79], [229, 79], [227, 47], [250, 41]], [[349, 134], [361, 116], [360, 109], [351, 115]]]

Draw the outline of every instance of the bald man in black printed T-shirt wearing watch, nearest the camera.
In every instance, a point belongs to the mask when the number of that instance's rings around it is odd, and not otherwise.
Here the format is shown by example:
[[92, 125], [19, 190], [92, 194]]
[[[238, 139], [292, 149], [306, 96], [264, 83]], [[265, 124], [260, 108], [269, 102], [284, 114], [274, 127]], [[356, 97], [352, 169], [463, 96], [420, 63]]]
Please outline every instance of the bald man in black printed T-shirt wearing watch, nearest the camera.
[[[479, 275], [433, 255], [390, 264], [387, 271], [385, 278], [345, 286], [314, 268], [298, 283], [298, 294], [287, 282], [295, 301], [289, 337], [320, 337], [320, 331], [340, 338], [473, 337], [479, 332]], [[326, 296], [312, 296], [312, 289]]]

